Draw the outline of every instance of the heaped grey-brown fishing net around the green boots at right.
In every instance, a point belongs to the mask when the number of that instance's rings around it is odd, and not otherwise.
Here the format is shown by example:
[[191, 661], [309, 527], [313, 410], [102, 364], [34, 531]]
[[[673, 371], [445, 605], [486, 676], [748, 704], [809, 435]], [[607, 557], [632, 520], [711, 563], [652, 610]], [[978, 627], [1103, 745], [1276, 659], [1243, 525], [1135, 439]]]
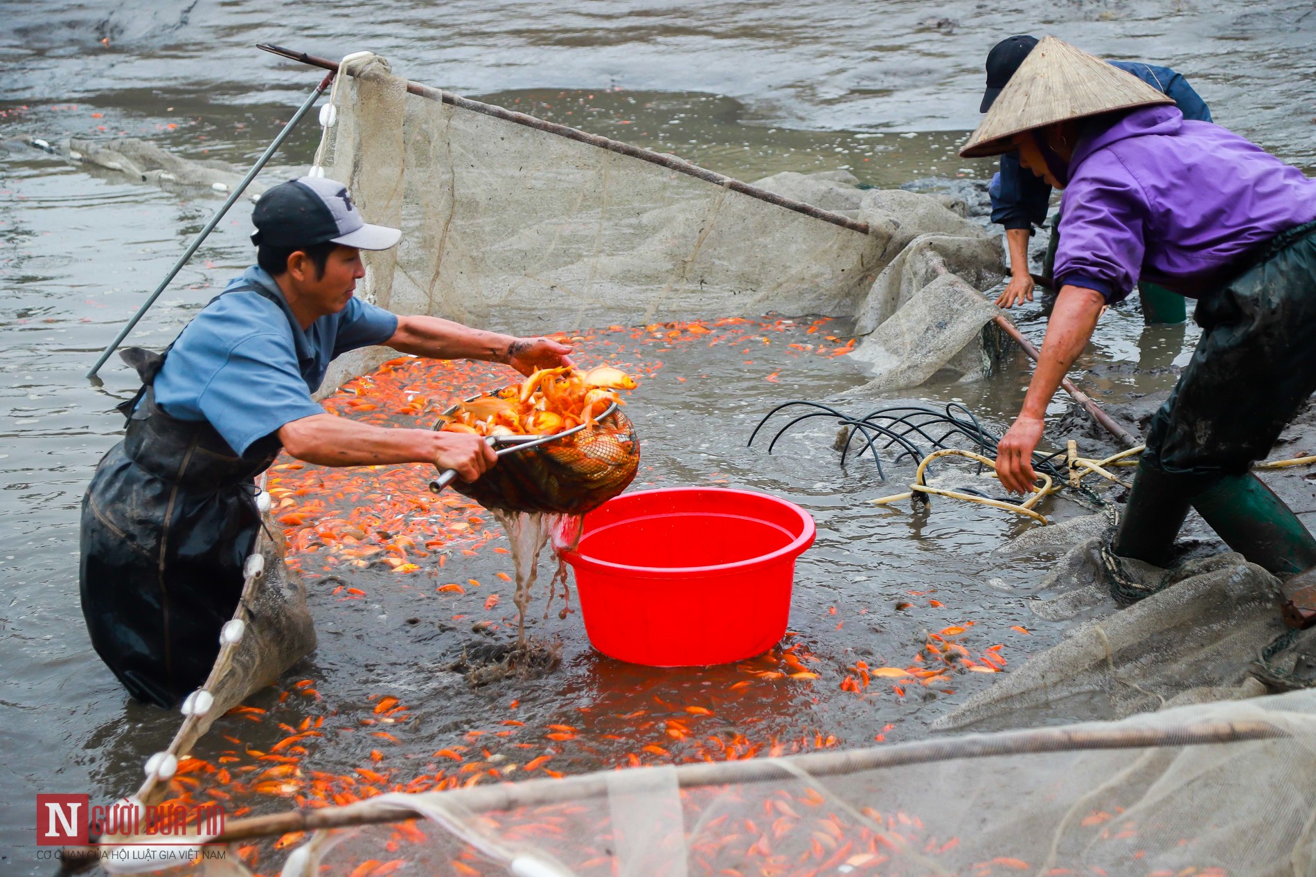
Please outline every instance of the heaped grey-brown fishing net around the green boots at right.
[[[1041, 582], [1033, 613], [1075, 628], [934, 728], [995, 730], [1065, 713], [1120, 718], [1316, 684], [1316, 631], [1280, 619], [1279, 581], [1233, 552], [1188, 548], [1171, 569], [1116, 557], [1112, 518], [1044, 527], [1008, 554], [1076, 542]], [[1209, 551], [1209, 548], [1207, 550]]]

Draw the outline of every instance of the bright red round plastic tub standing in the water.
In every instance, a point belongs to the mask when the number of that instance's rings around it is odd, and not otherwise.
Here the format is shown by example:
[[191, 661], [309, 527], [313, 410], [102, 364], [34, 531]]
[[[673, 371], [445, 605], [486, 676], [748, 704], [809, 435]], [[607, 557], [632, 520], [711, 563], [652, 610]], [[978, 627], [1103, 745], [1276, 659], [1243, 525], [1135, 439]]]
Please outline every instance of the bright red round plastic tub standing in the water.
[[650, 667], [726, 664], [786, 634], [813, 518], [749, 490], [626, 493], [591, 511], [566, 560], [590, 642]]

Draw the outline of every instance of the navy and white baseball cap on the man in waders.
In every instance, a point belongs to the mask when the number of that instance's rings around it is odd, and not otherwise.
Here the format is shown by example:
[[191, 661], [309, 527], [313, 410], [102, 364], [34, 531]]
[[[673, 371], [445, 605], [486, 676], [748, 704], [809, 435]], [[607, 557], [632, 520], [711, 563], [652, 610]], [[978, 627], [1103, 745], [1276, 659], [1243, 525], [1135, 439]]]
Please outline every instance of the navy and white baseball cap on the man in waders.
[[387, 250], [403, 233], [361, 218], [347, 187], [322, 176], [303, 176], [267, 189], [251, 212], [251, 243], [308, 247], [333, 241], [361, 250]]

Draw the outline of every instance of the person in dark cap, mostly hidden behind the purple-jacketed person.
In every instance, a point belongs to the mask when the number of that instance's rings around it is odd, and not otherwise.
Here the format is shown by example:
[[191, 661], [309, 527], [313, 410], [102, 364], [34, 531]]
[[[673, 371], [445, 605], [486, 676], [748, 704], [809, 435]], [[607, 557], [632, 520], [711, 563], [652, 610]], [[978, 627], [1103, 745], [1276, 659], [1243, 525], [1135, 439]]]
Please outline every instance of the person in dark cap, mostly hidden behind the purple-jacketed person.
[[[979, 112], [986, 113], [1000, 91], [1009, 82], [1019, 66], [1037, 45], [1036, 37], [1009, 37], [996, 43], [987, 54], [987, 89], [983, 92]], [[1188, 80], [1169, 67], [1155, 67], [1132, 60], [1112, 60], [1111, 64], [1133, 74], [1148, 85], [1174, 100], [1183, 117], [1192, 121], [1209, 122], [1211, 109], [1192, 89]], [[1001, 308], [1013, 308], [1025, 300], [1033, 300], [1033, 277], [1028, 271], [1028, 239], [1033, 226], [1046, 222], [1046, 209], [1051, 200], [1051, 187], [1040, 176], [1020, 167], [1019, 153], [1005, 153], [1000, 156], [1000, 170], [991, 181], [991, 221], [1005, 227], [1005, 243], [1009, 249], [1009, 285], [996, 298]], [[1055, 226], [1059, 222], [1057, 221]], [[1059, 238], [1051, 229], [1051, 241], [1046, 250], [1045, 276], [1051, 276], [1051, 264]], [[1140, 283], [1138, 296], [1142, 300], [1142, 316], [1149, 323], [1179, 323], [1184, 321], [1183, 296], [1177, 296], [1153, 283]]]

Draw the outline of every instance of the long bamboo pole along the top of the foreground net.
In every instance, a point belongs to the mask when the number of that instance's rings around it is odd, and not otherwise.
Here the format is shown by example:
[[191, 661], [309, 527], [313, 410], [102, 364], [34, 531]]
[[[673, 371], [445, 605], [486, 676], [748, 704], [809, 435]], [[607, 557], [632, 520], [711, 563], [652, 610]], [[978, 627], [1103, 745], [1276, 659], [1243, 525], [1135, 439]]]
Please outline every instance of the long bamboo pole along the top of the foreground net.
[[[892, 747], [848, 752], [813, 752], [788, 759], [746, 759], [744, 761], [694, 763], [676, 767], [682, 789], [725, 785], [732, 782], [795, 781], [796, 770], [812, 777], [840, 776], [861, 770], [880, 770], [909, 764], [928, 764], [953, 759], [986, 759], [1042, 752], [1087, 749], [1141, 749], [1148, 747], [1213, 746], [1245, 740], [1286, 739], [1290, 732], [1270, 722], [1195, 722], [1159, 728], [1124, 727], [1058, 727], [975, 734], [961, 738], [920, 740]], [[472, 786], [437, 793], [454, 806], [471, 813], [515, 810], [608, 794], [611, 770], [597, 770], [563, 780], [529, 780], [492, 786]], [[263, 817], [250, 817], [228, 823], [224, 832], [208, 843], [237, 843], [257, 838], [274, 838], [290, 831], [316, 831], [347, 826], [379, 824], [418, 819], [421, 814], [404, 806], [362, 801], [345, 807], [292, 810]], [[61, 873], [78, 873], [96, 861], [97, 847], [66, 847]]]

